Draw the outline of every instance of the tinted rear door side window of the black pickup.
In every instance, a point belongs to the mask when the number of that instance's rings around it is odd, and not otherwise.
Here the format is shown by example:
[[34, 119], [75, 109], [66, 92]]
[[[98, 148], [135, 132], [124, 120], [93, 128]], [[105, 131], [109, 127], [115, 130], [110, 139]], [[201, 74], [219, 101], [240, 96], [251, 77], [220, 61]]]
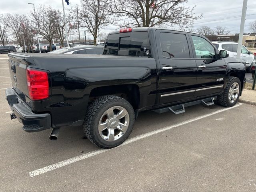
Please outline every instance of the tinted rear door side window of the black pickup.
[[160, 33], [163, 57], [190, 58], [188, 41], [185, 34]]

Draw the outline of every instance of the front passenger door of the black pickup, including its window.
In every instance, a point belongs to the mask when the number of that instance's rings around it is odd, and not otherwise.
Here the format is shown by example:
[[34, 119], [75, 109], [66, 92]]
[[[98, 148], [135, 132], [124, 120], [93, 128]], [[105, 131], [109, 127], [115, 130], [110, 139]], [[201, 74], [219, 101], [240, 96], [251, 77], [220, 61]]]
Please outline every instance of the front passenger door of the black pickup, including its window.
[[203, 36], [190, 34], [190, 39], [192, 44], [194, 44], [192, 47], [197, 65], [194, 98], [221, 92], [226, 74], [224, 59], [216, 59], [219, 51]]

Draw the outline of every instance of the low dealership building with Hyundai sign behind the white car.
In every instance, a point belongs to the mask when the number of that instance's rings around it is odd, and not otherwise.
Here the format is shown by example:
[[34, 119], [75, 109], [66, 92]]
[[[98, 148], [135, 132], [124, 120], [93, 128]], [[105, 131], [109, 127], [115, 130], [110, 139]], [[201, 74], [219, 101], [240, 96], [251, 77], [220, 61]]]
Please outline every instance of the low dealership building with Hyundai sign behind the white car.
[[[239, 35], [216, 35], [216, 36], [206, 36], [210, 41], [229, 41], [238, 43]], [[255, 34], [246, 34], [243, 36], [242, 44], [248, 48], [256, 48], [256, 36]]]

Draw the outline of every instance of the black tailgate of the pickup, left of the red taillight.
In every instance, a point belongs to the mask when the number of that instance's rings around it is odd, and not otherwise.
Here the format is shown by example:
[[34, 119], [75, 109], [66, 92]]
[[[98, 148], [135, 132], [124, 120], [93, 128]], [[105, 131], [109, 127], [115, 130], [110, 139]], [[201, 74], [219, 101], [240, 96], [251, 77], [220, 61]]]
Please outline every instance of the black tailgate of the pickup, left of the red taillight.
[[28, 96], [27, 80], [26, 80], [26, 67], [27, 62], [25, 56], [22, 54], [8, 54], [9, 56], [9, 72], [12, 80], [12, 87], [20, 90]]

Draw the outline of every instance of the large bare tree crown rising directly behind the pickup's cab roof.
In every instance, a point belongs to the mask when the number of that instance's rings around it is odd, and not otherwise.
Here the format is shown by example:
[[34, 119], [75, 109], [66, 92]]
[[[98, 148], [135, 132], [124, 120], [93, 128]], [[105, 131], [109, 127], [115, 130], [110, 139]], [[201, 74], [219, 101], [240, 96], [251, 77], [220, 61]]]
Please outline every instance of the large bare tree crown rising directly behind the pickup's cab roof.
[[187, 0], [113, 0], [110, 10], [125, 20], [123, 26], [173, 26], [201, 17], [186, 8]]

